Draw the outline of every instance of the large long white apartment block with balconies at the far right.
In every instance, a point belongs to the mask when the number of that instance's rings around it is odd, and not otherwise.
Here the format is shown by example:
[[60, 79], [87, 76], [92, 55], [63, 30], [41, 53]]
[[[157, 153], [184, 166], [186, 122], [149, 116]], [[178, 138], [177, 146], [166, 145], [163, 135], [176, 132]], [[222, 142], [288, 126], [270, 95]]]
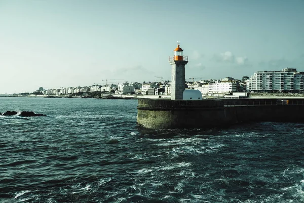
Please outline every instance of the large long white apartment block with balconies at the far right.
[[297, 72], [296, 69], [288, 68], [282, 71], [258, 71], [250, 77], [246, 90], [257, 92], [303, 90], [302, 76], [303, 74]]

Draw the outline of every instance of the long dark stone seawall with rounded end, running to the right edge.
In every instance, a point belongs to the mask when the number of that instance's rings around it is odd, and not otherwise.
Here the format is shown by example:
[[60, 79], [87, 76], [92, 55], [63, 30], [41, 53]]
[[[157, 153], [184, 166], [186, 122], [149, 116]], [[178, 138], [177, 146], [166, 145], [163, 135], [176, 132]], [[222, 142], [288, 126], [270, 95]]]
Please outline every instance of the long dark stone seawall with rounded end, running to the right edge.
[[146, 128], [226, 127], [243, 122], [304, 121], [304, 99], [139, 99], [137, 123]]

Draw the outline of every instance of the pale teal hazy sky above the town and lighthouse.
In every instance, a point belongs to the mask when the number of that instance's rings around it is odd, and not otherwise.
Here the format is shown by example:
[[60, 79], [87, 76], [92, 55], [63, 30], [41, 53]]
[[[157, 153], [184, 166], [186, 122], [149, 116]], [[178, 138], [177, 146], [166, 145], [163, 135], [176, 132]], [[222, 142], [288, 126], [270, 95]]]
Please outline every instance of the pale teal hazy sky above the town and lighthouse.
[[0, 94], [170, 80], [177, 41], [186, 79], [304, 71], [303, 10], [304, 0], [0, 0]]

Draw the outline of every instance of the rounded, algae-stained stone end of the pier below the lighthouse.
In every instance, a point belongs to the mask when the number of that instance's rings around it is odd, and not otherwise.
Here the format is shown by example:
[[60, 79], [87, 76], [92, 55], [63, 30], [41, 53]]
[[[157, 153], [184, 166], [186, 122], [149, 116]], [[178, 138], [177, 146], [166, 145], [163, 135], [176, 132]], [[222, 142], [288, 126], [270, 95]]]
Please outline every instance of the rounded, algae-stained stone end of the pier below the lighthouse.
[[202, 128], [231, 123], [220, 99], [138, 99], [137, 124], [145, 128]]

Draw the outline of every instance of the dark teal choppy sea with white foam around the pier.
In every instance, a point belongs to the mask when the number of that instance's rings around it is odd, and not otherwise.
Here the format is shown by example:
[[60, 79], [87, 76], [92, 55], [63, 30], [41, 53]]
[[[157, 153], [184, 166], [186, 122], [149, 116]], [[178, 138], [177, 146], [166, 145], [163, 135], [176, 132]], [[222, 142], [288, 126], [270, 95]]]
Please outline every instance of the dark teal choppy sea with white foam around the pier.
[[0, 202], [304, 202], [304, 123], [145, 129], [137, 103], [0, 97], [47, 115], [0, 116]]

